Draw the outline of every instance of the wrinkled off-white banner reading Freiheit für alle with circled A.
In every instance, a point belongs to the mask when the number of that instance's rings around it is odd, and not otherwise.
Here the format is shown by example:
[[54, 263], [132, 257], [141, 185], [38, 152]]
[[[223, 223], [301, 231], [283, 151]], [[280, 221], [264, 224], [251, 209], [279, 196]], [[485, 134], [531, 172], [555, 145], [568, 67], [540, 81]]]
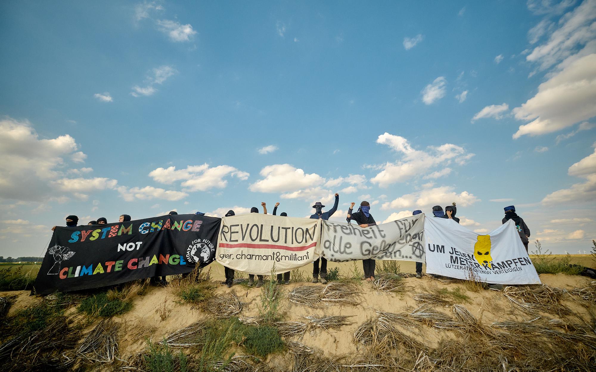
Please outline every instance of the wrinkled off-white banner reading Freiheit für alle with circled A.
[[371, 227], [323, 221], [323, 257], [329, 261], [402, 260], [424, 262], [424, 215]]

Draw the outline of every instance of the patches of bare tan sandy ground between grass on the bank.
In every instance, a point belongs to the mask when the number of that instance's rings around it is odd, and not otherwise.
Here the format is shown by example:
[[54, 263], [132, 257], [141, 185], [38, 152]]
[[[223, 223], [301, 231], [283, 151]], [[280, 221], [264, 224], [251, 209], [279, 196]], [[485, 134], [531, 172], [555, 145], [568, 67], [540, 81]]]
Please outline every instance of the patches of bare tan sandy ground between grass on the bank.
[[[403, 267], [402, 267], [403, 269]], [[212, 269], [213, 270], [213, 269]], [[215, 271], [215, 270], [213, 270]], [[212, 272], [213, 272], [212, 271]], [[573, 289], [588, 286], [590, 280], [581, 276], [568, 276], [566, 274], [542, 274], [541, 280], [545, 285], [559, 287], [562, 289]], [[462, 283], [445, 284], [433, 279], [430, 276], [424, 276], [422, 279], [406, 278], [404, 279], [408, 291], [394, 294], [377, 292], [370, 283], [359, 283], [359, 296], [361, 304], [358, 306], [328, 305], [321, 309], [312, 309], [299, 306], [283, 299], [282, 312], [286, 321], [300, 321], [308, 323], [305, 318], [308, 316], [322, 315], [349, 315], [353, 324], [344, 326], [340, 330], [331, 331], [311, 331], [307, 330], [300, 342], [308, 346], [321, 348], [325, 354], [344, 354], [357, 352], [361, 345], [353, 340], [355, 330], [368, 318], [375, 316], [375, 311], [384, 312], [410, 312], [420, 304], [414, 301], [413, 296], [417, 293], [431, 293], [433, 290], [448, 288], [449, 290], [461, 287], [465, 289]], [[285, 295], [297, 286], [318, 286], [321, 284], [311, 283], [291, 283], [282, 288]], [[260, 294], [259, 288], [248, 288], [244, 285], [234, 285], [228, 289], [224, 285], [218, 285], [215, 292], [225, 294], [234, 291], [240, 296], [241, 301], [245, 303], [243, 311], [238, 316], [255, 316], [259, 314]], [[480, 292], [465, 292], [470, 299], [467, 301], [455, 301], [454, 303], [463, 305], [473, 315], [482, 320], [485, 324], [491, 324], [494, 321], [504, 320], [529, 320], [531, 315], [512, 307], [508, 299], [502, 292], [496, 290], [480, 290]], [[20, 308], [27, 307], [39, 301], [34, 296], [29, 296], [26, 291], [0, 292], [0, 296], [14, 296], [15, 304], [11, 307], [10, 314], [14, 314]], [[575, 301], [570, 296], [563, 301], [563, 304], [569, 307], [576, 315], [564, 317], [568, 323], [589, 323], [591, 316], [588, 308], [583, 307], [581, 303]], [[449, 307], [436, 310], [443, 311], [451, 315]], [[76, 311], [69, 311], [73, 317], [80, 317]], [[553, 314], [544, 314], [549, 318], [557, 318]], [[123, 357], [133, 355], [145, 348], [144, 337], [148, 336], [154, 341], [163, 339], [176, 330], [182, 329], [197, 320], [204, 317], [211, 317], [209, 313], [202, 312], [193, 308], [193, 306], [182, 303], [173, 293], [170, 287], [149, 287], [144, 295], [136, 296], [134, 299], [134, 309], [125, 315], [114, 318], [123, 323], [124, 332], [121, 333], [120, 353]], [[88, 328], [91, 330], [91, 327]], [[87, 331], [88, 331], [87, 330]], [[145, 330], [145, 333], [139, 331]], [[421, 330], [415, 330], [411, 333], [418, 341], [429, 346], [436, 346], [436, 343], [445, 337], [455, 337], [454, 332], [440, 331], [430, 327], [421, 327]], [[136, 338], [136, 339], [135, 339]]]

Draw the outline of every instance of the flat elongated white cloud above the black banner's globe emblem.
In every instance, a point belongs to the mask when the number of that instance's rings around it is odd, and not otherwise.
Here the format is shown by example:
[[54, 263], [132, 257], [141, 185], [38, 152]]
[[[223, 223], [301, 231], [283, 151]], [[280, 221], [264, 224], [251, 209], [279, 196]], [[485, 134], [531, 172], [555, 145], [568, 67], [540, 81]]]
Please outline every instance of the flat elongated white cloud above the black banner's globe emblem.
[[225, 177], [237, 177], [246, 180], [249, 173], [240, 171], [230, 165], [209, 167], [209, 164], [188, 165], [185, 169], [176, 170], [176, 167], [157, 168], [149, 173], [153, 180], [171, 185], [173, 182], [184, 180], [181, 183], [184, 191], [206, 191], [213, 188], [223, 189], [228, 185]]

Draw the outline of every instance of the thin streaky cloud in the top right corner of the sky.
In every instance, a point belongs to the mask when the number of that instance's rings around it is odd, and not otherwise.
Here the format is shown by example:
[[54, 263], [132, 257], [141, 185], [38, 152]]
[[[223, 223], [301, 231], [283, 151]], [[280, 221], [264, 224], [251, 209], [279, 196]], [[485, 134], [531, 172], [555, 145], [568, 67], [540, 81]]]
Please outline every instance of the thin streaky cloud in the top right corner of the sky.
[[583, 1], [560, 18], [558, 28], [550, 33], [547, 42], [536, 46], [526, 56], [526, 60], [538, 63], [538, 70], [542, 71], [575, 54], [578, 46], [585, 45], [596, 37], [595, 20], [596, 1]]

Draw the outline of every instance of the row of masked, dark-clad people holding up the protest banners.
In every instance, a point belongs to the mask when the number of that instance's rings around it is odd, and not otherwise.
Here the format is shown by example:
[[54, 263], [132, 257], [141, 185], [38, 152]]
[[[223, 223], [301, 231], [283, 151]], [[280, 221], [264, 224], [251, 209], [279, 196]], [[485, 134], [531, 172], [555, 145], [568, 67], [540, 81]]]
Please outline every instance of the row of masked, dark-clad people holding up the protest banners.
[[[310, 218], [320, 219], [320, 220], [329, 220], [329, 218], [337, 211], [337, 205], [339, 204], [339, 193], [335, 194], [335, 202], [333, 204], [333, 208], [324, 212], [322, 209], [325, 208], [325, 205], [322, 205], [321, 202], [316, 202], [312, 208], [315, 208], [315, 213], [311, 215]], [[375, 222], [373, 215], [370, 213], [371, 205], [367, 201], [362, 201], [360, 203], [360, 207], [356, 212], [353, 211], [354, 206], [356, 203], [350, 204], [350, 208], [347, 210], [346, 221], [350, 223], [350, 221], [356, 221], [358, 226], [360, 227], [369, 227], [375, 226], [377, 223]], [[277, 215], [277, 208], [280, 206], [280, 203], [275, 203], [275, 207], [273, 208], [273, 215]], [[267, 214], [267, 206], [265, 202], [261, 203], [261, 207], [263, 207], [263, 213]], [[527, 252], [527, 245], [529, 242], [530, 237], [530, 230], [528, 229], [524, 220], [516, 214], [516, 208], [513, 205], [504, 208], [505, 210], [505, 217], [502, 219], [502, 223], [506, 223], [508, 220], [513, 220], [516, 224], [517, 232], [520, 235], [520, 239], [522, 239], [522, 243], [526, 248]], [[251, 213], [259, 213], [259, 208], [252, 207], [250, 209]], [[415, 210], [412, 212], [412, 215], [417, 215], [422, 213], [421, 210]], [[432, 210], [433, 217], [438, 218], [449, 218], [454, 220], [457, 223], [460, 223], [460, 218], [455, 217], [457, 214], [457, 207], [455, 203], [452, 205], [448, 205], [445, 207], [445, 210], [440, 205], [435, 205]], [[178, 214], [176, 211], [169, 212], [170, 215]], [[204, 215], [202, 212], [196, 212], [195, 214]], [[233, 210], [229, 210], [225, 217], [229, 217], [235, 215]], [[286, 212], [281, 212], [281, 217], [287, 217]], [[120, 215], [119, 222], [130, 221], [131, 216], [128, 214]], [[79, 218], [76, 215], [69, 215], [66, 217], [66, 226], [67, 227], [76, 227]], [[97, 221], [89, 221], [88, 225], [94, 224], [107, 224], [107, 220], [104, 217], [98, 218]], [[54, 230], [56, 227], [52, 227]], [[375, 264], [376, 261], [373, 258], [368, 258], [367, 260], [362, 260], [362, 269], [364, 270], [364, 278], [363, 280], [367, 280], [372, 282], [374, 280], [374, 272], [375, 272]], [[422, 277], [422, 264], [423, 262], [416, 262], [416, 277]], [[225, 281], [222, 284], [231, 287], [234, 284], [234, 270], [229, 267], [224, 267], [225, 270]], [[316, 261], [313, 262], [312, 265], [312, 283], [318, 283], [319, 277], [321, 278], [322, 284], [327, 284], [327, 259], [324, 257], [318, 258]], [[280, 284], [290, 284], [290, 271], [287, 271], [283, 274], [277, 274], [277, 282]], [[150, 280], [151, 285], [167, 285], [166, 277], [152, 277]], [[252, 287], [260, 287], [263, 285], [263, 276], [257, 275], [257, 281], [254, 282], [254, 274], [249, 273], [249, 283], [248, 286]]]

